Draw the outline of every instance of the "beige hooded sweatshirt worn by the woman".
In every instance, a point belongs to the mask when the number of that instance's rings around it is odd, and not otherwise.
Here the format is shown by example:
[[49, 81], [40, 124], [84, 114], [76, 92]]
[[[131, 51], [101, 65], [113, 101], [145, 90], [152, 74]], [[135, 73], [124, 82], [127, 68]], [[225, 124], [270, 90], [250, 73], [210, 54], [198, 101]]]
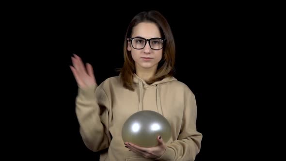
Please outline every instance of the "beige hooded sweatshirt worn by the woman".
[[[135, 91], [125, 89], [120, 76], [79, 88], [76, 114], [84, 144], [100, 153], [100, 161], [194, 161], [202, 134], [196, 130], [197, 106], [188, 86], [174, 77], [148, 85], [135, 75], [133, 81]], [[121, 137], [127, 118], [142, 110], [162, 114], [172, 128], [164, 154], [154, 160], [129, 151]]]

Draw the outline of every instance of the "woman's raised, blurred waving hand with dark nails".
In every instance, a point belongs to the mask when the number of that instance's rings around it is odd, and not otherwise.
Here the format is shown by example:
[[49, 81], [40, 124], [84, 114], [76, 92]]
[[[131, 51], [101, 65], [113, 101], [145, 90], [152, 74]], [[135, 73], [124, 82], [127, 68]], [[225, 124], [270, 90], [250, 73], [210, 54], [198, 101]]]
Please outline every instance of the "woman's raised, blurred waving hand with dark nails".
[[88, 86], [96, 85], [94, 70], [91, 64], [87, 63], [86, 66], [82, 63], [81, 58], [74, 54], [71, 57], [73, 66], [70, 66], [73, 75], [78, 83], [78, 86], [85, 88]]

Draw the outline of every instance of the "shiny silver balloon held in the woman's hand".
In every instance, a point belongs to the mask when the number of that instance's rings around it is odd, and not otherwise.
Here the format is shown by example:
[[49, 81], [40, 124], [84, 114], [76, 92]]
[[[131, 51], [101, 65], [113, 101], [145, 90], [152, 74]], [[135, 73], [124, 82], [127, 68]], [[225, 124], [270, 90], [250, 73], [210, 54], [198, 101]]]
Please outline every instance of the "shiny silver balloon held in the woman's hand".
[[157, 137], [166, 143], [171, 138], [171, 126], [168, 120], [154, 111], [140, 111], [132, 114], [122, 128], [122, 139], [142, 147], [158, 145]]

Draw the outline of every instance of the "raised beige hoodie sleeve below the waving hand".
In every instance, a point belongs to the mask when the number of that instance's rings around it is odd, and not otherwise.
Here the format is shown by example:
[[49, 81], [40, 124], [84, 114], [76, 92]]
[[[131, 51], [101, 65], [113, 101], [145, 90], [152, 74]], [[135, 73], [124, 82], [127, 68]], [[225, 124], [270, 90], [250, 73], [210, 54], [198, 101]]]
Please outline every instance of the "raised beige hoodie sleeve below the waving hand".
[[79, 88], [76, 97], [76, 114], [79, 132], [84, 144], [92, 151], [109, 147], [109, 101], [100, 86]]

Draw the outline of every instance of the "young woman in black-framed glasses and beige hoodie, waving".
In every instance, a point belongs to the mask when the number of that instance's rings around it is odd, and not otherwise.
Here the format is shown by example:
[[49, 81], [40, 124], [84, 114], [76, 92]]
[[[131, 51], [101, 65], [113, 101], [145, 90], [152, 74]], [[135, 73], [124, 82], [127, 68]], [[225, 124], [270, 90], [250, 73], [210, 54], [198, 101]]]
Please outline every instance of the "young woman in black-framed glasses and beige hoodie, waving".
[[[157, 11], [136, 15], [124, 42], [119, 76], [97, 84], [91, 64], [72, 57], [78, 83], [76, 114], [85, 145], [100, 161], [193, 161], [201, 148], [196, 130], [197, 106], [188, 86], [173, 77], [175, 42], [167, 20]], [[158, 145], [124, 143], [122, 127], [133, 113], [151, 110], [171, 125], [171, 139]]]

